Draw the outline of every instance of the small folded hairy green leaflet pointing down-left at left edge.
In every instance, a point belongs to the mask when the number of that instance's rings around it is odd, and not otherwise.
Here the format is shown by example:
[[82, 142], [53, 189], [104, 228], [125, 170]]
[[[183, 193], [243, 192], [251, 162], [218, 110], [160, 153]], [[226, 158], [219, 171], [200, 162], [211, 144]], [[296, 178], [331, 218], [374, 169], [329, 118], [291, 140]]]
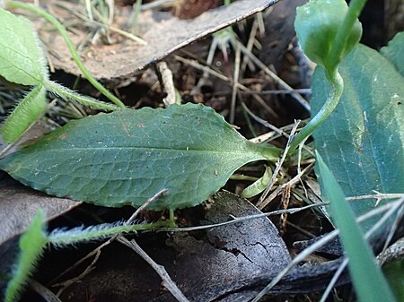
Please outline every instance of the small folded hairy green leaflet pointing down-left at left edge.
[[46, 89], [40, 84], [31, 90], [7, 117], [0, 130], [4, 142], [15, 142], [48, 108]]

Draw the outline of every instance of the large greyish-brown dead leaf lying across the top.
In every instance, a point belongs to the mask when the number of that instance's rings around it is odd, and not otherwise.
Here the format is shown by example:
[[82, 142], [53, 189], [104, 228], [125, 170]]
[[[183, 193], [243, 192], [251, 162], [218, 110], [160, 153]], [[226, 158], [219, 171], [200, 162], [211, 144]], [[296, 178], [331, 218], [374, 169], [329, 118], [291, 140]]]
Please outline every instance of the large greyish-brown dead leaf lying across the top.
[[[138, 18], [140, 36], [147, 42], [146, 45], [119, 36], [115, 44], [86, 47], [82, 53], [83, 63], [98, 79], [112, 82], [129, 80], [137, 71], [161, 60], [174, 50], [234, 22], [239, 22], [276, 2], [276, 0], [239, 0], [231, 5], [209, 10], [192, 20], [180, 20], [171, 13], [146, 11]], [[48, 1], [48, 5], [51, 3]], [[64, 2], [64, 5], [72, 12], [84, 12], [84, 8], [76, 4]], [[72, 15], [66, 9], [62, 10], [52, 5], [51, 11], [55, 12], [62, 22], [64, 19], [72, 19]], [[130, 15], [131, 9], [129, 11], [127, 7], [117, 8], [113, 26], [128, 30]], [[60, 35], [54, 30], [48, 30], [48, 25], [45, 28], [42, 20], [37, 19], [34, 23], [48, 48], [52, 65], [57, 69], [63, 69], [66, 73], [81, 74]], [[88, 38], [87, 35], [88, 32], [78, 28], [71, 32], [70, 37], [75, 45], [78, 45]]]

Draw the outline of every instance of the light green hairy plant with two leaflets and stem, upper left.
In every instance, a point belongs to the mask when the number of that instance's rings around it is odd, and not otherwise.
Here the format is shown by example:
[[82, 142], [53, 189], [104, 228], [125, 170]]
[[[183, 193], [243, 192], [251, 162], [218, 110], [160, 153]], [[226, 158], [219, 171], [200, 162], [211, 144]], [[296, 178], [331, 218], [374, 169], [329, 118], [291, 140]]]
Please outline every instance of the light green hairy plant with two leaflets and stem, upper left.
[[[39, 8], [29, 4], [9, 2], [11, 6]], [[9, 82], [14, 82], [33, 89], [22, 99], [4, 123], [1, 130], [4, 142], [15, 142], [28, 127], [47, 109], [46, 91], [51, 91], [62, 99], [75, 100], [84, 105], [116, 110], [117, 106], [100, 100], [82, 96], [75, 91], [49, 80], [46, 58], [40, 47], [40, 41], [31, 22], [0, 8], [2, 30], [0, 33], [0, 75]], [[56, 19], [54, 22], [58, 23]], [[63, 27], [60, 25], [60, 30]], [[65, 30], [66, 31], [66, 30]], [[76, 55], [77, 56], [77, 55]], [[116, 98], [115, 98], [116, 99]], [[121, 106], [120, 101], [117, 104]]]

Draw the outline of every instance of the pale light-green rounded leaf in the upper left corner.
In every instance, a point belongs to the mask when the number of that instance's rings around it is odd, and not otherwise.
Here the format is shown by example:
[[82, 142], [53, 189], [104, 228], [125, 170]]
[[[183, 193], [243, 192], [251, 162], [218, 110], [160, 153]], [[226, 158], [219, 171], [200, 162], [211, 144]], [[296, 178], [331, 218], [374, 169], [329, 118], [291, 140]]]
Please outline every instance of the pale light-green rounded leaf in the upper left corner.
[[0, 8], [0, 75], [9, 82], [37, 85], [48, 78], [46, 60], [31, 22]]

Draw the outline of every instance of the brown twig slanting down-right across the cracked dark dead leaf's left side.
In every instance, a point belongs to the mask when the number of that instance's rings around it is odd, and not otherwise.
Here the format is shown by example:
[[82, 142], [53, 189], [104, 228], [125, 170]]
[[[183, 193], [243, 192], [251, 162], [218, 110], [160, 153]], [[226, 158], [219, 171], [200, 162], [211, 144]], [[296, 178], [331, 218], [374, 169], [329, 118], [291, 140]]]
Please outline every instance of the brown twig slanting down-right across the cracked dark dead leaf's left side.
[[162, 285], [171, 292], [172, 296], [177, 298], [177, 300], [180, 302], [189, 301], [189, 299], [186, 298], [184, 294], [180, 291], [180, 289], [177, 287], [175, 282], [171, 280], [171, 277], [165, 270], [164, 266], [155, 263], [154, 260], [149, 255], [147, 255], [139, 245], [137, 245], [135, 240], [128, 241], [127, 238], [121, 236], [119, 236], [117, 240], [123, 245], [133, 249], [137, 253], [137, 255], [141, 256], [143, 259], [145, 259], [146, 263], [149, 263], [150, 266], [153, 267], [154, 271], [157, 272], [159, 276], [162, 278]]

